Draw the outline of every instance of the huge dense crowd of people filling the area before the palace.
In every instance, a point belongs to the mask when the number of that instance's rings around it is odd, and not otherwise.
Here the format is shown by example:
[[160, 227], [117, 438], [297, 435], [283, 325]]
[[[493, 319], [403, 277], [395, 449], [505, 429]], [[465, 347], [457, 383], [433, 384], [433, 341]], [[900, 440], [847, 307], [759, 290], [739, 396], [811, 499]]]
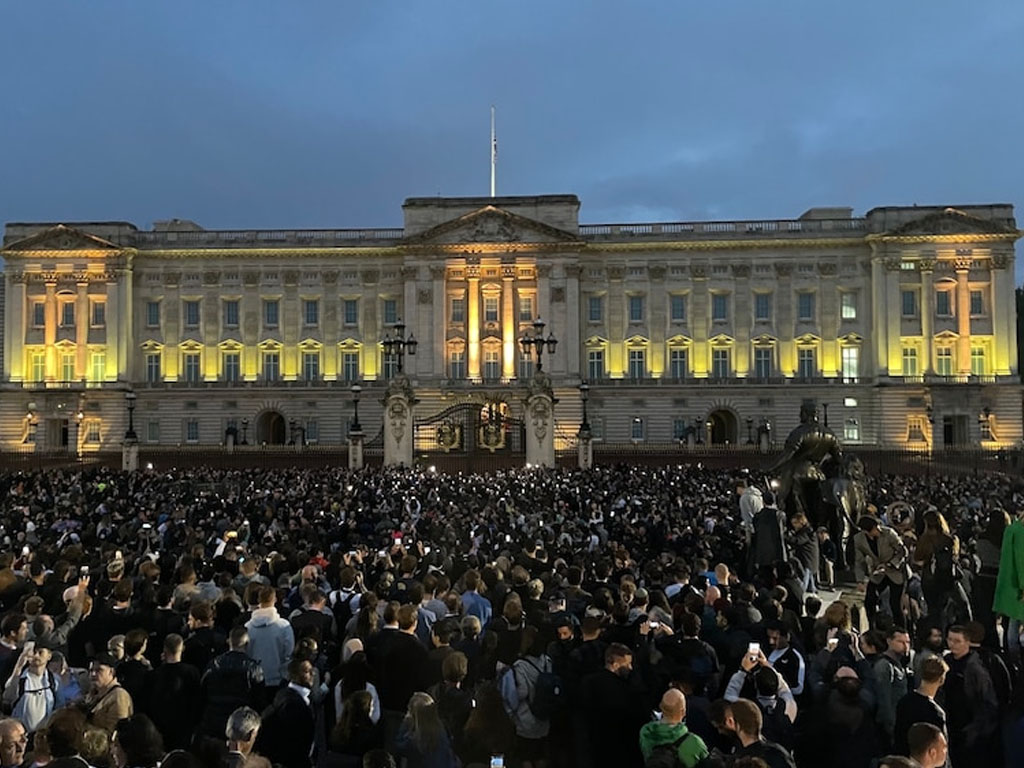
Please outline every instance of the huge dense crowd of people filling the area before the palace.
[[866, 483], [0, 474], [0, 768], [1024, 764], [1024, 486]]

